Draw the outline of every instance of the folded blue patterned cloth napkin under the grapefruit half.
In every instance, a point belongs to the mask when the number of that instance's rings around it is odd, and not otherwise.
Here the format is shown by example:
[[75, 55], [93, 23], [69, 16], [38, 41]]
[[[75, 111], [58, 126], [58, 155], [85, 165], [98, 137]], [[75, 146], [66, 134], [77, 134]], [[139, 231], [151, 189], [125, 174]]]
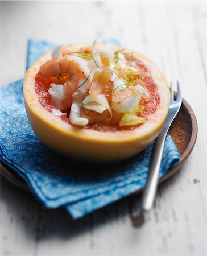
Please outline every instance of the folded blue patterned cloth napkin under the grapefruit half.
[[[28, 43], [27, 68], [55, 47], [45, 41]], [[65, 207], [76, 219], [144, 187], [153, 143], [141, 154], [118, 164], [93, 166], [51, 152], [27, 120], [23, 79], [1, 88], [0, 158], [13, 168], [47, 208]], [[160, 177], [180, 160], [172, 138], [165, 142]]]

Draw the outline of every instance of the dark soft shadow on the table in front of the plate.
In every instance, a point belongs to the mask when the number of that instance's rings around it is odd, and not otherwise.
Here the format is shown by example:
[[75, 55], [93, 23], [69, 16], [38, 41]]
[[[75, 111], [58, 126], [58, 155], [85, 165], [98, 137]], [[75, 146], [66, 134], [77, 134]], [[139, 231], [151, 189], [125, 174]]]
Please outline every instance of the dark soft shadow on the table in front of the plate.
[[[165, 181], [160, 185], [158, 197], [162, 197], [164, 190], [176, 182], [176, 176], [174, 175], [170, 181]], [[131, 218], [129, 225], [140, 226], [143, 224], [140, 221], [144, 221], [136, 218], [139, 212], [140, 199], [140, 194], [126, 197], [74, 221], [64, 208], [46, 209], [31, 193], [15, 187], [1, 177], [1, 204], [5, 204], [8, 220], [16, 222], [20, 230], [24, 230], [26, 237], [35, 242], [48, 240], [51, 237], [69, 240], [80, 236], [82, 233], [90, 233], [102, 225], [114, 225], [114, 220], [129, 221], [129, 216]], [[159, 206], [155, 205], [155, 221], [159, 222], [158, 210]], [[150, 214], [147, 214], [147, 221], [150, 221]]]

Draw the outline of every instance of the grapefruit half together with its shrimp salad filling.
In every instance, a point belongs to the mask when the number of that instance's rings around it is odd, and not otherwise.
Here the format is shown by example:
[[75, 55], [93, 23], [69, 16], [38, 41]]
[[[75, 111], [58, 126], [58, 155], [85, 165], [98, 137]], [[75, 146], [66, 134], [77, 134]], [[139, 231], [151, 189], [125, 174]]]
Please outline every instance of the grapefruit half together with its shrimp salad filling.
[[70, 44], [40, 57], [24, 79], [26, 112], [53, 150], [117, 162], [159, 134], [169, 86], [147, 57], [111, 44]]

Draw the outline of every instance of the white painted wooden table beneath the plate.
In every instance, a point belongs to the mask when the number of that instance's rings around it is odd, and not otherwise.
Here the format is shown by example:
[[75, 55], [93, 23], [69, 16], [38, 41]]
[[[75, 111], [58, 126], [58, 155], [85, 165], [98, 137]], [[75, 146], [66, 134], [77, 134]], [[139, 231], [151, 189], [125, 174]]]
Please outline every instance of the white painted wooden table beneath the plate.
[[1, 84], [24, 76], [28, 38], [91, 42], [99, 33], [149, 56], [168, 80], [180, 80], [197, 116], [196, 146], [160, 185], [140, 228], [130, 217], [140, 196], [73, 221], [1, 178], [0, 254], [206, 255], [205, 2], [1, 2]]

